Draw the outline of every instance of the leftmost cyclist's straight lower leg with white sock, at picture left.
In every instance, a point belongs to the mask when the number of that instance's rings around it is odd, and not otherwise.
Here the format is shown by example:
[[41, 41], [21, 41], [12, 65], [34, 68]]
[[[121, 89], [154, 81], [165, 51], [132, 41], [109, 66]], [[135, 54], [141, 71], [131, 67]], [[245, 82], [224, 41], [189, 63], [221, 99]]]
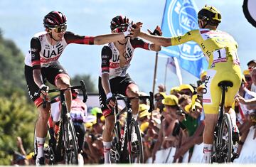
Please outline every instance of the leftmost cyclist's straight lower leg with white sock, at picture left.
[[36, 141], [37, 141], [37, 156], [36, 160], [38, 161], [39, 158], [43, 157], [43, 145], [46, 141], [46, 134], [47, 134], [47, 122], [50, 117], [50, 104], [46, 104], [46, 108], [43, 108], [41, 104], [38, 107], [38, 120], [36, 122]]

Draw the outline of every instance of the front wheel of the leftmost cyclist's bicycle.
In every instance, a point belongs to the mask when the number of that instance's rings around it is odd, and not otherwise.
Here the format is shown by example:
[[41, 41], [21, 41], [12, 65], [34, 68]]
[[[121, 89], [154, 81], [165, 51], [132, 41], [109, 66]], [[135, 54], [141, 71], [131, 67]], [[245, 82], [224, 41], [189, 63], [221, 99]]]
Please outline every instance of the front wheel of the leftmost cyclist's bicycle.
[[68, 164], [78, 164], [78, 139], [70, 117], [64, 123], [64, 131], [65, 161]]

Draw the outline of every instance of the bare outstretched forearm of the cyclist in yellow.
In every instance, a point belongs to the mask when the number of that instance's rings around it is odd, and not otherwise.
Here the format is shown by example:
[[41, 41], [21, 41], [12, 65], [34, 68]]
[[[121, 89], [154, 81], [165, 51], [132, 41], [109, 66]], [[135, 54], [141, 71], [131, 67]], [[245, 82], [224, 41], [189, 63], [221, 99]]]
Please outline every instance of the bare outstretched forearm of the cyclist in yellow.
[[151, 41], [156, 45], [169, 46], [171, 45], [171, 38], [165, 38], [162, 36], [153, 36], [148, 33], [141, 32], [139, 34], [140, 37], [146, 39], [147, 41]]

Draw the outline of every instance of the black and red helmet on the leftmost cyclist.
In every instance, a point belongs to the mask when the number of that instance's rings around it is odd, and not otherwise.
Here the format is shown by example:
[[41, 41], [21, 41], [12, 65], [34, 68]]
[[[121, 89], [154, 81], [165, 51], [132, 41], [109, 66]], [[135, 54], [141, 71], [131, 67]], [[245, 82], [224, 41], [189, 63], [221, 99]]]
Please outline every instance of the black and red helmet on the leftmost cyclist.
[[66, 22], [67, 19], [65, 15], [60, 11], [50, 11], [50, 13], [43, 18], [43, 26], [46, 28], [54, 28], [59, 25], [62, 26], [65, 25]]

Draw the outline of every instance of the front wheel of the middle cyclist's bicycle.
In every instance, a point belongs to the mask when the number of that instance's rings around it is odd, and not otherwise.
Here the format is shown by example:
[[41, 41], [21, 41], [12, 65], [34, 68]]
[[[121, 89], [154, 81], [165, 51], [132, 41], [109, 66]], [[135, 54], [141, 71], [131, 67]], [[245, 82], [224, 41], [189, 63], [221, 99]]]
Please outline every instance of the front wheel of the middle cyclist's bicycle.
[[132, 119], [129, 125], [131, 142], [128, 143], [130, 163], [144, 163], [144, 151], [142, 146], [142, 135], [137, 121]]

